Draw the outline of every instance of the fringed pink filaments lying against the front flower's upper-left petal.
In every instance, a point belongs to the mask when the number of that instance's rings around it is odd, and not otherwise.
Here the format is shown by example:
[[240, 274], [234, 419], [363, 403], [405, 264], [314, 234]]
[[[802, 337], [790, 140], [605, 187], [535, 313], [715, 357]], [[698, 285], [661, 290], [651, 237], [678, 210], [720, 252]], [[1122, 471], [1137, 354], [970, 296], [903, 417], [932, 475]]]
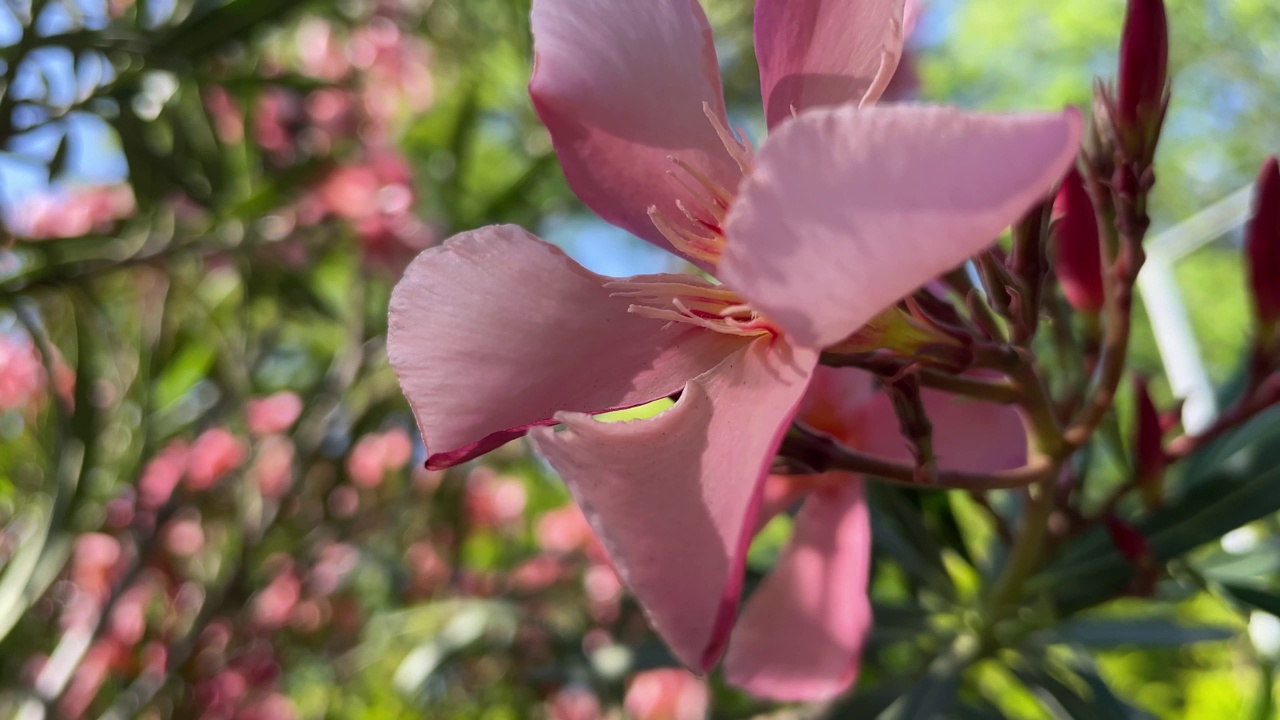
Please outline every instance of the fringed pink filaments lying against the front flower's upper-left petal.
[[[739, 138], [742, 133], [735, 133], [730, 129], [707, 102], [703, 102], [703, 113], [710, 120], [721, 143], [737, 163], [742, 174], [750, 173], [754, 160], [753, 150], [748, 142]], [[724, 217], [733, 201], [733, 193], [680, 158], [673, 156], [671, 161], [676, 169], [668, 174], [691, 199], [689, 202], [676, 201], [676, 208], [689, 223], [672, 222], [657, 206], [649, 208], [649, 219], [677, 251], [714, 265], [724, 252]]]

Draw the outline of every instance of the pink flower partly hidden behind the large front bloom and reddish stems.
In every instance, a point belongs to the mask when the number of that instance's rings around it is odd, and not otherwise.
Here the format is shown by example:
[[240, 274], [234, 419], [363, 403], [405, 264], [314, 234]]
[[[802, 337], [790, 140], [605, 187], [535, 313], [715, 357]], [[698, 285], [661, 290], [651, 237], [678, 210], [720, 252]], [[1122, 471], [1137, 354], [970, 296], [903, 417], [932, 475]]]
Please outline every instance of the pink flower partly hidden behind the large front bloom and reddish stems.
[[[942, 465], [984, 471], [1027, 461], [1027, 436], [1014, 409], [929, 389], [923, 400]], [[911, 459], [892, 401], [876, 389], [868, 373], [820, 368], [799, 419], [850, 447]], [[846, 473], [769, 480], [760, 525], [801, 500], [804, 505], [791, 542], [737, 618], [724, 673], [735, 684], [771, 697], [829, 697], [856, 679], [872, 626], [870, 524], [863, 484]]]

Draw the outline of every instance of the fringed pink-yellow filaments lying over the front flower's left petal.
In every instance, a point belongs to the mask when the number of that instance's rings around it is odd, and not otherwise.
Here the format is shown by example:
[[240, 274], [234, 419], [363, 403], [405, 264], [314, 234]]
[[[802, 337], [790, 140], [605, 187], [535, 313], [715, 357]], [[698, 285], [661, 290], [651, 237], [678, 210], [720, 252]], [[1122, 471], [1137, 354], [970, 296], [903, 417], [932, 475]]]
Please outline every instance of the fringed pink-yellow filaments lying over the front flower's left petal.
[[613, 297], [630, 299], [630, 313], [667, 324], [686, 323], [742, 337], [777, 334], [777, 329], [736, 292], [694, 275], [653, 275], [616, 281], [604, 287], [613, 291]]

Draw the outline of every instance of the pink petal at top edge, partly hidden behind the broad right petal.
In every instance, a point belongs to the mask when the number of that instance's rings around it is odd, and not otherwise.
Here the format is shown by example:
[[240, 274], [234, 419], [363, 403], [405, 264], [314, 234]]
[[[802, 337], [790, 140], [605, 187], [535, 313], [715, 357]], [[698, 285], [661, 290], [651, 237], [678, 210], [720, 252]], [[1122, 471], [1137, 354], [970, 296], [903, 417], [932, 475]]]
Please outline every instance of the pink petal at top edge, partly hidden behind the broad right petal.
[[755, 54], [769, 127], [792, 111], [874, 102], [902, 54], [904, 0], [759, 0]]

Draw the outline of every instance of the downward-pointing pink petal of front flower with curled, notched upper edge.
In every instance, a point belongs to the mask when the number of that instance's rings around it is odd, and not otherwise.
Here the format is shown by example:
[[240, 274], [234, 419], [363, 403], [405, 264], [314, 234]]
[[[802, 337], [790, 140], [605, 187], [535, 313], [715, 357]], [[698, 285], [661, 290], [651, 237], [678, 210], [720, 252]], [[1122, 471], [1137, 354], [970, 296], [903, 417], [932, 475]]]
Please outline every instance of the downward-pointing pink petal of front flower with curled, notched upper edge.
[[760, 338], [648, 420], [529, 437], [564, 478], [654, 629], [707, 670], [724, 650], [760, 487], [817, 354]]

